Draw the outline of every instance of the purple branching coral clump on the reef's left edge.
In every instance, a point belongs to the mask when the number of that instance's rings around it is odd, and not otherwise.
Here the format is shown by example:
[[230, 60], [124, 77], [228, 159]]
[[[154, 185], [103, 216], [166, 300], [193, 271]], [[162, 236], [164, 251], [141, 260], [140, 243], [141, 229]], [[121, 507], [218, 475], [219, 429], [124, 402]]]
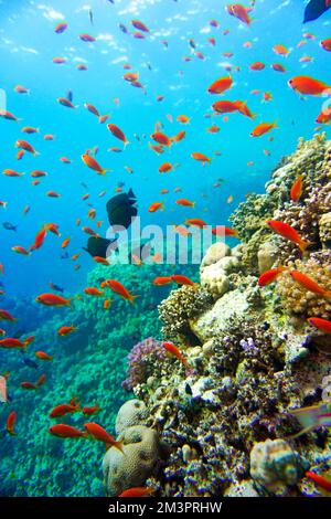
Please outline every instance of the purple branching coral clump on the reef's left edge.
[[148, 337], [138, 342], [128, 354], [128, 378], [121, 383], [122, 388], [129, 391], [137, 384], [146, 382], [149, 375], [149, 366], [153, 360], [163, 359], [166, 359], [166, 350], [162, 341]]

